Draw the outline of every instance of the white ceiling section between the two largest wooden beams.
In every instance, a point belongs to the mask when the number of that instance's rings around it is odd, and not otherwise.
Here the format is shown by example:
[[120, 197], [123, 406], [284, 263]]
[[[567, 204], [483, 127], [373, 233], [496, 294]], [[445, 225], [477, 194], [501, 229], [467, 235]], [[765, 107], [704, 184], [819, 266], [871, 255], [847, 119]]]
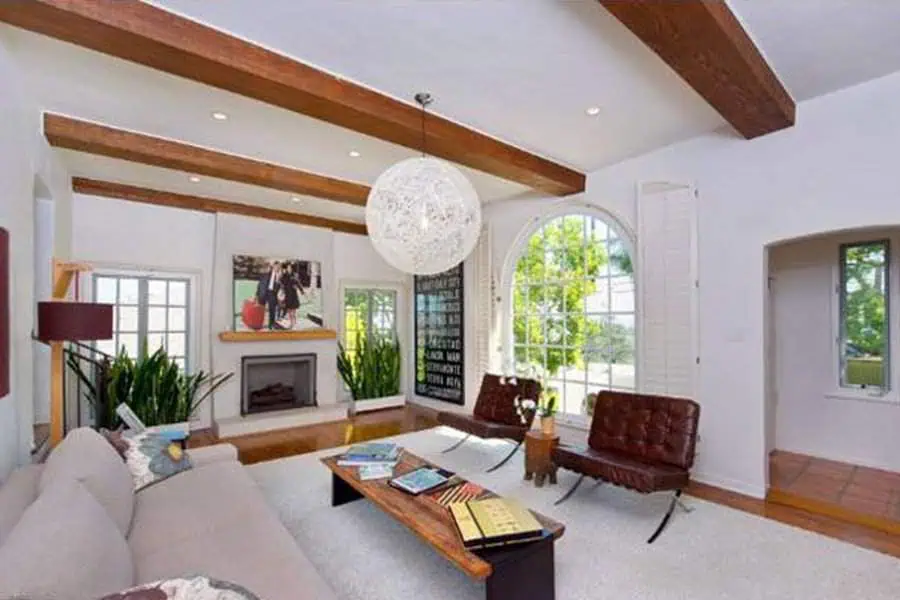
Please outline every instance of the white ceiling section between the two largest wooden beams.
[[723, 123], [593, 0], [153, 3], [584, 172]]

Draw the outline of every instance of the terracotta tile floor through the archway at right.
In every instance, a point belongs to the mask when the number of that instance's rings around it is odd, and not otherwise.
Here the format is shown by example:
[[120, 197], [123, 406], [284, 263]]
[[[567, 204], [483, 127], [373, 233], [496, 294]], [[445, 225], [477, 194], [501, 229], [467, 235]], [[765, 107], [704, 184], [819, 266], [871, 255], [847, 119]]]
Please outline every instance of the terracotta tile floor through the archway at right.
[[773, 489], [900, 521], [900, 473], [776, 450], [769, 458]]

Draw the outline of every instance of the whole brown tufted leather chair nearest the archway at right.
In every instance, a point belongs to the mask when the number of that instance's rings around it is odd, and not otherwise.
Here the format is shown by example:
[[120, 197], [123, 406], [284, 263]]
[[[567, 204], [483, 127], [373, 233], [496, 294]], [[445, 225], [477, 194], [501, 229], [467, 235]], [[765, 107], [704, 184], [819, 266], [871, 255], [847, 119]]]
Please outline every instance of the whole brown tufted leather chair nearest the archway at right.
[[647, 540], [652, 544], [690, 480], [699, 419], [700, 405], [686, 398], [600, 392], [587, 447], [559, 446], [553, 452], [557, 467], [581, 474], [556, 504], [567, 500], [585, 477], [642, 494], [674, 491], [662, 522]]

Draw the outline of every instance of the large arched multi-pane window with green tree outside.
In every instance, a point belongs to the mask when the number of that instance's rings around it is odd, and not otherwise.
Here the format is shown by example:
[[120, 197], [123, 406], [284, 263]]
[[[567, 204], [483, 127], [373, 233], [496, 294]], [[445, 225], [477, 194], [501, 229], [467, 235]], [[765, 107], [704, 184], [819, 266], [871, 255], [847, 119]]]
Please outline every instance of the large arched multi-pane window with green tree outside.
[[589, 394], [635, 389], [635, 285], [630, 243], [596, 214], [548, 220], [525, 242], [512, 280], [516, 372], [555, 389], [563, 414]]

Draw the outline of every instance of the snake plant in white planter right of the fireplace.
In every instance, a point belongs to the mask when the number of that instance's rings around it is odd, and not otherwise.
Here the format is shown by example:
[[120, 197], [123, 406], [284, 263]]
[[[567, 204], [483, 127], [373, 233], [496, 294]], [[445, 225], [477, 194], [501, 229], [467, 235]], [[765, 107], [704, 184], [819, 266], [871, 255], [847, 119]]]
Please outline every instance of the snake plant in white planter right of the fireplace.
[[338, 343], [338, 372], [350, 390], [353, 411], [402, 406], [400, 342], [386, 336], [356, 336], [355, 351]]

